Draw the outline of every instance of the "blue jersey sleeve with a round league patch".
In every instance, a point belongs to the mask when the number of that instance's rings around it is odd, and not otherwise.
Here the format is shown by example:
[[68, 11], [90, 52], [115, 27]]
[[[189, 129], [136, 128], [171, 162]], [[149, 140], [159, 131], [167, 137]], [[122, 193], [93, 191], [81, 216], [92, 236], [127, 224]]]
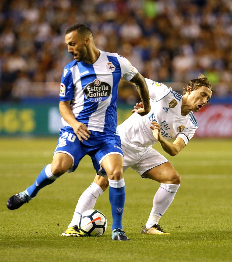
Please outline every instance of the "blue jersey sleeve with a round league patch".
[[60, 83], [60, 94], [59, 100], [60, 101], [69, 101], [73, 99], [73, 76], [72, 72], [69, 68], [65, 67]]

